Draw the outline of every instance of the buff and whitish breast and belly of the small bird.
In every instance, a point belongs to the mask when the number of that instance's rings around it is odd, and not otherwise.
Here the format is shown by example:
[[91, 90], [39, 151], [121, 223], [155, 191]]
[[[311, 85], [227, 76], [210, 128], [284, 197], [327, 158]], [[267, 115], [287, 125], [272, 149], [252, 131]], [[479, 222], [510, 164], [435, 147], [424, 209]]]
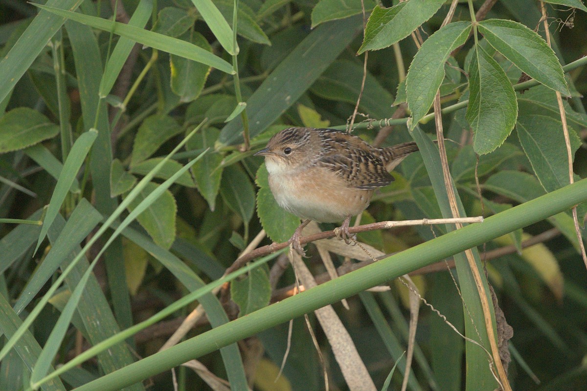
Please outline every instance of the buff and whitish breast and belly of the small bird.
[[269, 187], [275, 200], [286, 211], [319, 223], [336, 223], [361, 213], [373, 190], [346, 187], [345, 181], [326, 168], [295, 174], [269, 170]]

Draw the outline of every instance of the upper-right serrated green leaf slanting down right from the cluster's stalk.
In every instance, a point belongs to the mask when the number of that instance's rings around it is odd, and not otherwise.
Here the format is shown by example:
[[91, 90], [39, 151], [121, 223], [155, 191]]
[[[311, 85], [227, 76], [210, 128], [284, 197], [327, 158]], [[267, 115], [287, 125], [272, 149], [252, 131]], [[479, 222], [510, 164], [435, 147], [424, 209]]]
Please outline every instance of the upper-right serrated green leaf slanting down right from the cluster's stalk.
[[479, 31], [491, 46], [522, 72], [563, 95], [571, 95], [561, 63], [538, 33], [521, 23], [505, 19], [482, 21]]

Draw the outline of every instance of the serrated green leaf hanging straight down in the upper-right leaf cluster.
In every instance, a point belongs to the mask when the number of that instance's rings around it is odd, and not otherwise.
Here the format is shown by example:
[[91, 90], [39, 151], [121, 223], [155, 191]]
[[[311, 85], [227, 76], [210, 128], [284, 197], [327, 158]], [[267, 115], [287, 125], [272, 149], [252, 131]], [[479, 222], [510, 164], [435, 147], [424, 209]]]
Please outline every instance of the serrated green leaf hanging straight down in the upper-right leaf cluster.
[[490, 153], [514, 129], [518, 103], [504, 70], [478, 45], [469, 66], [469, 88], [466, 118], [474, 132], [473, 147], [480, 155]]

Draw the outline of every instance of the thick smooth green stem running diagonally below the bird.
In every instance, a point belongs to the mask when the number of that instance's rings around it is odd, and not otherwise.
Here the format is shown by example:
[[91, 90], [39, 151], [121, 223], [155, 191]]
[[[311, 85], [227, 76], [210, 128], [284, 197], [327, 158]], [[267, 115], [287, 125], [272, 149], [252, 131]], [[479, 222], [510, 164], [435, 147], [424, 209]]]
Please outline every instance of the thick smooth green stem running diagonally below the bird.
[[259, 309], [252, 314], [179, 343], [173, 348], [77, 387], [75, 390], [114, 391], [140, 382], [147, 377], [214, 352], [223, 346], [248, 338], [290, 319], [356, 295], [373, 286], [384, 284], [407, 272], [537, 223], [585, 200], [587, 200], [587, 179], [488, 217], [483, 223], [467, 225], [460, 230], [449, 232], [299, 295]]

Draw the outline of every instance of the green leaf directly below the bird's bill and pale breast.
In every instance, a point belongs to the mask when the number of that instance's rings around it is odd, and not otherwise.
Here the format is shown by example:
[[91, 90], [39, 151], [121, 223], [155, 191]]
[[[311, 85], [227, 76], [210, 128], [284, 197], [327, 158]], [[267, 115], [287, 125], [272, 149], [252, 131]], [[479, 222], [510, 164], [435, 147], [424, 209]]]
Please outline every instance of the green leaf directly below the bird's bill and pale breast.
[[299, 225], [299, 217], [281, 208], [269, 188], [268, 173], [265, 164], [257, 171], [257, 215], [269, 239], [285, 242], [294, 234]]

